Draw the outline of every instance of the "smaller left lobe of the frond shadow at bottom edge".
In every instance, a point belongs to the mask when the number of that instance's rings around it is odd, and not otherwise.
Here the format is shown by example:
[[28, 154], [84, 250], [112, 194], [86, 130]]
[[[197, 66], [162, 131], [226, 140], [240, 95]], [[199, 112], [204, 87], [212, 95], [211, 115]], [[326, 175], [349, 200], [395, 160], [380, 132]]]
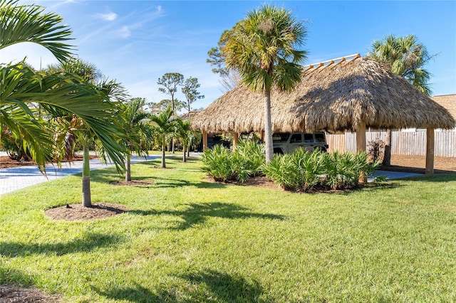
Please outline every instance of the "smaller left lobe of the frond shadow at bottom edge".
[[[177, 299], [175, 294], [166, 289], [152, 292], [150, 289], [135, 283], [135, 287], [111, 288], [108, 291], [92, 287], [93, 291], [108, 299], [125, 300], [128, 302], [151, 303], [151, 302], [185, 302]], [[187, 301], [190, 302], [190, 301]]]

